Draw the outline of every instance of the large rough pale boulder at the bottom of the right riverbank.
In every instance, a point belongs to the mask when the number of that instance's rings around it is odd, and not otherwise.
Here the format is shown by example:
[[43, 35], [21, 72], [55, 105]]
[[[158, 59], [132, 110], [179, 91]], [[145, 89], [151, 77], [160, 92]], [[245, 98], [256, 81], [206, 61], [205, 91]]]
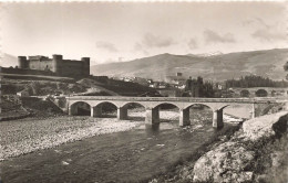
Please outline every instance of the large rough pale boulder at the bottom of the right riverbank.
[[240, 143], [225, 142], [203, 155], [194, 165], [194, 182], [247, 182], [253, 172], [245, 171], [255, 158]]

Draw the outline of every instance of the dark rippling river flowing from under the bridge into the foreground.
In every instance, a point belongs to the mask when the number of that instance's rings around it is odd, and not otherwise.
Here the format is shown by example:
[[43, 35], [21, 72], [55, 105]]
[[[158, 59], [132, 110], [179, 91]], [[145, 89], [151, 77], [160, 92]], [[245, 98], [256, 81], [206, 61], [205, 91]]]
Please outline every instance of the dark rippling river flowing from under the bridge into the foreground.
[[227, 130], [210, 122], [179, 128], [177, 121], [158, 128], [144, 123], [136, 129], [102, 134], [39, 150], [1, 162], [3, 183], [31, 182], [140, 182], [166, 172], [179, 159]]

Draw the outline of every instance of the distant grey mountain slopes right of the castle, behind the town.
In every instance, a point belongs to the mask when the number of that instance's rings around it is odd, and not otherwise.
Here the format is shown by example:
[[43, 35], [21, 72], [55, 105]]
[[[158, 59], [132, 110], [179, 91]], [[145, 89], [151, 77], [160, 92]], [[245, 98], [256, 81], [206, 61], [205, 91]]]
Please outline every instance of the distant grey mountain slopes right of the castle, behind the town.
[[237, 52], [212, 55], [161, 54], [130, 62], [91, 66], [91, 74], [107, 76], [138, 76], [164, 80], [182, 72], [184, 76], [203, 76], [205, 79], [227, 79], [256, 74], [271, 79], [284, 79], [284, 64], [288, 49]]

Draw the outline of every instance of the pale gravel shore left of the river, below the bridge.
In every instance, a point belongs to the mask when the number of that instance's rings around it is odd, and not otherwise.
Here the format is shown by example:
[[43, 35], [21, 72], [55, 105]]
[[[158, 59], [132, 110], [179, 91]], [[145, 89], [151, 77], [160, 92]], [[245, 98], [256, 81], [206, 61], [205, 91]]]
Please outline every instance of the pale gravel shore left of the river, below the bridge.
[[93, 136], [126, 131], [141, 121], [115, 118], [55, 117], [0, 122], [0, 161]]

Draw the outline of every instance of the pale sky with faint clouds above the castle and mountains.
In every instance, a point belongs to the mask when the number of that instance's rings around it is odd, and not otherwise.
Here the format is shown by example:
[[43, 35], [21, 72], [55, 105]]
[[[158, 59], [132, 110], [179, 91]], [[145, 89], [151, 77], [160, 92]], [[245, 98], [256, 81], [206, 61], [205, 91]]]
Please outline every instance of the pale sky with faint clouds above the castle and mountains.
[[2, 53], [91, 57], [288, 47], [287, 2], [18, 2], [2, 4]]

